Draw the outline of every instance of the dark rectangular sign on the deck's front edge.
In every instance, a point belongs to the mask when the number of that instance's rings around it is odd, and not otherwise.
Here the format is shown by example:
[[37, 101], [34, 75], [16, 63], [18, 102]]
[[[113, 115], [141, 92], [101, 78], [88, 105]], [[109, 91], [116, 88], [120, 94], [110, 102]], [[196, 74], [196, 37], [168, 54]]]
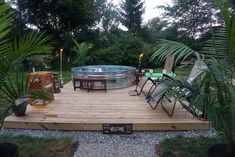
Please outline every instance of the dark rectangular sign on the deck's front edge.
[[104, 134], [132, 134], [132, 124], [103, 124]]

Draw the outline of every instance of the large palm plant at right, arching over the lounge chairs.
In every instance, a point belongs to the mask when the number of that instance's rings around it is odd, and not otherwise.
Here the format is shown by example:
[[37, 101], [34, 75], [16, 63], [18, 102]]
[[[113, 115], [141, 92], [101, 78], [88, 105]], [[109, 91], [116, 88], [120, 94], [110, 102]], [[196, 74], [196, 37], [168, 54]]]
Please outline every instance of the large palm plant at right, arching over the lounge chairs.
[[[206, 108], [204, 111], [215, 128], [222, 130], [232, 152], [235, 152], [235, 88], [232, 84], [235, 65], [235, 15], [229, 2], [215, 0], [224, 18], [224, 24], [214, 33], [211, 40], [204, 44], [201, 52], [174, 41], [162, 40], [154, 48], [151, 60], [163, 62], [168, 54], [176, 58], [176, 62], [188, 57], [204, 61], [208, 69], [191, 85], [198, 83], [199, 90], [193, 96], [191, 105]], [[173, 80], [186, 87], [185, 81]], [[172, 85], [172, 83], [168, 84]], [[172, 88], [169, 88], [171, 90]]]

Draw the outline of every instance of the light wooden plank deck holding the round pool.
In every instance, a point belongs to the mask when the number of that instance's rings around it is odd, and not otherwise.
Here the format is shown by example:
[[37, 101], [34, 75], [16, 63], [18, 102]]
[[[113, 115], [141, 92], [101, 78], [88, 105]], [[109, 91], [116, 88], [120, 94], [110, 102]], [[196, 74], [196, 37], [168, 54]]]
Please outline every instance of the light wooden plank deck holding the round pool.
[[208, 121], [200, 121], [186, 113], [180, 106], [172, 118], [158, 106], [155, 111], [143, 95], [129, 96], [134, 87], [91, 91], [73, 90], [68, 83], [55, 100], [45, 107], [28, 106], [27, 115], [11, 115], [4, 128], [46, 130], [102, 130], [105, 123], [131, 123], [134, 131], [140, 130], [207, 130]]

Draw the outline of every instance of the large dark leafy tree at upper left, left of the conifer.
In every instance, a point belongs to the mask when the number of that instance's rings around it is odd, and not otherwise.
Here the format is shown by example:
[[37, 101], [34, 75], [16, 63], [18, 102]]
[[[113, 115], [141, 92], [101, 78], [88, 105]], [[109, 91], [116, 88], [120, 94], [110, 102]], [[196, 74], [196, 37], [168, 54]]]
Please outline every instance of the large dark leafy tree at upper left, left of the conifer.
[[71, 56], [71, 37], [88, 36], [95, 24], [94, 0], [18, 0], [16, 5], [24, 24], [52, 35], [65, 58]]

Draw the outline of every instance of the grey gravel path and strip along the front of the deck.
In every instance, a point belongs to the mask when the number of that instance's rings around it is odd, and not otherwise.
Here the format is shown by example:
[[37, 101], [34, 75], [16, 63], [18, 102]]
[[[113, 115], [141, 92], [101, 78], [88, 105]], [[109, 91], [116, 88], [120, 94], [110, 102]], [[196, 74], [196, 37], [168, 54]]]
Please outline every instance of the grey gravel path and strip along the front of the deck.
[[212, 137], [213, 131], [134, 132], [131, 135], [106, 135], [91, 131], [45, 131], [2, 129], [0, 135], [33, 137], [72, 137], [79, 141], [74, 157], [156, 157], [156, 145], [166, 138]]

